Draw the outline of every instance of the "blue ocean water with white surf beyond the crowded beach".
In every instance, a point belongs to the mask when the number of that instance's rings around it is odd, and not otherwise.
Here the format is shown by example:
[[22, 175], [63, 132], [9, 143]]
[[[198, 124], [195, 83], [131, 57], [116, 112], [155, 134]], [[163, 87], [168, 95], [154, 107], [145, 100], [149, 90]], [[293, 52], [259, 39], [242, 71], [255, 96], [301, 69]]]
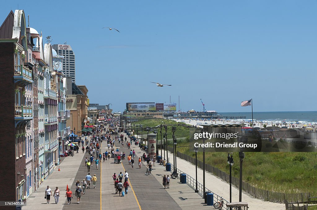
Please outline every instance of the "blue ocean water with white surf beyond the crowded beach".
[[[223, 116], [246, 116], [246, 120], [252, 119], [251, 112], [221, 112]], [[285, 121], [287, 123], [299, 122], [301, 124], [317, 123], [317, 111], [305, 112], [253, 112], [253, 120], [257, 121]]]

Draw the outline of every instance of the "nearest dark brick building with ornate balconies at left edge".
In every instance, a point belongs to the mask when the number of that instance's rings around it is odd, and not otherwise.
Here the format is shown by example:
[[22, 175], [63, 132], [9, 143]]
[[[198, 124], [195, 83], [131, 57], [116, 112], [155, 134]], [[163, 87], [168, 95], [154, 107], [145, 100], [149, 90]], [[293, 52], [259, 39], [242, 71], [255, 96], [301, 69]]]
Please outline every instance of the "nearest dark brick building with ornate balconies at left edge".
[[26, 125], [33, 120], [32, 105], [25, 98], [26, 86], [33, 83], [33, 69], [29, 60], [25, 62], [29, 44], [23, 10], [10, 11], [0, 27], [0, 117], [6, 127], [0, 150], [0, 158], [5, 160], [0, 168], [5, 170], [0, 170], [0, 176], [10, 177], [0, 189], [1, 201], [26, 199]]

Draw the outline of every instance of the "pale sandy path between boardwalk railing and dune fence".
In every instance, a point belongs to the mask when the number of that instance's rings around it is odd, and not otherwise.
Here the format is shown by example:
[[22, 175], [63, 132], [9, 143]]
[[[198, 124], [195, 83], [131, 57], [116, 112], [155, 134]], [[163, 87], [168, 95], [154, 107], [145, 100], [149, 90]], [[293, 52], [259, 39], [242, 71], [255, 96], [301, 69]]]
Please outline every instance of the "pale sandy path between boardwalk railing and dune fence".
[[[173, 154], [169, 152], [169, 157], [172, 157]], [[181, 171], [184, 171], [189, 176], [195, 178], [195, 165], [187, 162], [183, 159], [177, 158], [177, 168]], [[213, 176], [209, 172], [205, 173], [206, 177], [206, 188], [211, 190], [213, 193], [223, 196], [224, 199], [229, 201], [229, 183], [222, 181], [217, 176]], [[200, 183], [203, 183], [203, 170], [197, 168], [197, 180]], [[232, 185], [232, 202], [239, 201], [239, 189], [235, 188]], [[249, 209], [262, 209], [262, 210], [284, 210], [285, 204], [273, 203], [268, 201], [262, 201], [253, 197], [250, 197], [248, 194], [245, 194], [242, 191], [242, 201], [248, 202]], [[260, 207], [260, 208], [259, 208]]]

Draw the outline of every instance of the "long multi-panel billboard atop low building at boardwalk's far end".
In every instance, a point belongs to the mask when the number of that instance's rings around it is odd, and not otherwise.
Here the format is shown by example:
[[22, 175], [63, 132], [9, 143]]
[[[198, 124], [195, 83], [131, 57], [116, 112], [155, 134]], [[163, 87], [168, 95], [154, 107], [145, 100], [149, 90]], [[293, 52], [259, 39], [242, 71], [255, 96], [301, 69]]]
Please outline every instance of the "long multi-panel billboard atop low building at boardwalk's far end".
[[130, 111], [176, 111], [176, 103], [126, 103]]

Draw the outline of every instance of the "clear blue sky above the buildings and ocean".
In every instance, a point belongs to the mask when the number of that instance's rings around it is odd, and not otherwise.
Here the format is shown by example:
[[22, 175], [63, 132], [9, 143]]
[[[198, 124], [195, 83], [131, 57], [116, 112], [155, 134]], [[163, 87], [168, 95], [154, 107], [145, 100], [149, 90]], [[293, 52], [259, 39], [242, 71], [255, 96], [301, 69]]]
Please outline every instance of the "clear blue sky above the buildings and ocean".
[[[171, 102], [218, 112], [316, 110], [317, 1], [5, 1], [67, 41], [91, 103]], [[114, 30], [102, 27], [117, 28]], [[156, 87], [150, 82], [172, 84]], [[178, 107], [178, 105], [177, 105]]]

